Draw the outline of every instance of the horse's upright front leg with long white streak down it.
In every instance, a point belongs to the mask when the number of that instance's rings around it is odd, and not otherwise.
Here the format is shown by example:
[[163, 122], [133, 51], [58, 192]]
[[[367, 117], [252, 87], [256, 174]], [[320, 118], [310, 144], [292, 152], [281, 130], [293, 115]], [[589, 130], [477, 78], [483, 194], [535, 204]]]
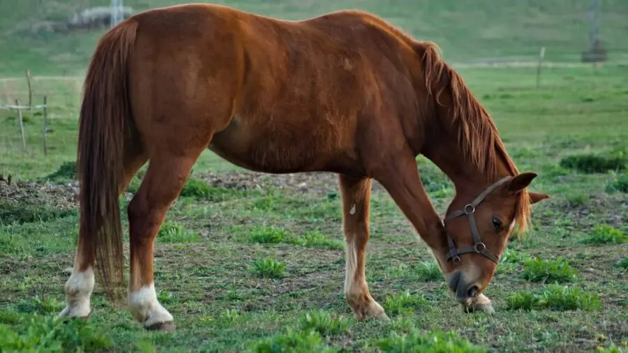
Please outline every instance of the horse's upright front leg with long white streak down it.
[[371, 202], [371, 179], [339, 177], [343, 197], [343, 229], [347, 253], [345, 259], [345, 296], [358, 320], [376, 317], [387, 320], [366, 284], [366, 243], [368, 242], [368, 212]]

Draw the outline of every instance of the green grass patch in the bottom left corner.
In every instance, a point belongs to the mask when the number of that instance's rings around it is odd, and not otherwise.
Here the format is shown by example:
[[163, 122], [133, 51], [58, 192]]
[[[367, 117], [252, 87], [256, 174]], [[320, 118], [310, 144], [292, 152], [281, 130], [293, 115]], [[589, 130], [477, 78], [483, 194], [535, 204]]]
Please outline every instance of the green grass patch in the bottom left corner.
[[0, 315], [0, 352], [94, 352], [110, 346], [110, 338], [89, 321]]

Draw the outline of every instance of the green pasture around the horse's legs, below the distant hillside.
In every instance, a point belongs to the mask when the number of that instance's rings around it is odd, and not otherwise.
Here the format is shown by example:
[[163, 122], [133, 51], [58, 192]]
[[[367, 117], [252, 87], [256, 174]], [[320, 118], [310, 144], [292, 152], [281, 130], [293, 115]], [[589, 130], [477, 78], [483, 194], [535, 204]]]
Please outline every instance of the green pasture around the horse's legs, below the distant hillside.
[[[15, 114], [0, 111], [0, 173], [13, 174], [10, 186], [0, 181], [0, 351], [628, 350], [628, 67], [544, 68], [540, 88], [529, 68], [459, 72], [519, 170], [539, 174], [532, 190], [552, 196], [534, 206], [532, 231], [511, 239], [485, 292], [495, 315], [463, 313], [375, 183], [366, 275], [391, 322], [354, 321], [334, 175], [246, 172], [207, 151], [157, 239], [158, 298], [176, 333], [144, 331], [98, 284], [89, 322], [54, 322], [77, 236], [73, 170], [63, 164], [75, 158], [70, 96], [50, 109], [47, 158], [40, 116], [27, 115], [22, 152]], [[593, 157], [569, 158], [582, 154]], [[442, 214], [451, 183], [428, 160], [417, 164]], [[125, 229], [139, 179], [121, 200]], [[33, 345], [50, 349], [21, 350]]]

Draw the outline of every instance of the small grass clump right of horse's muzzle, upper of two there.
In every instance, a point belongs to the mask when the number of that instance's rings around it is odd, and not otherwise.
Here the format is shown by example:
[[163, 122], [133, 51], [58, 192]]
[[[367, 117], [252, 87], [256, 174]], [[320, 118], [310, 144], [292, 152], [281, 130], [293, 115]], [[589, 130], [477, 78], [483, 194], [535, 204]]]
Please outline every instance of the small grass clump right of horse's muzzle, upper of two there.
[[567, 283], [573, 282], [576, 276], [578, 270], [569, 266], [562, 257], [556, 260], [528, 260], [523, 263], [521, 272], [521, 277], [530, 282]]

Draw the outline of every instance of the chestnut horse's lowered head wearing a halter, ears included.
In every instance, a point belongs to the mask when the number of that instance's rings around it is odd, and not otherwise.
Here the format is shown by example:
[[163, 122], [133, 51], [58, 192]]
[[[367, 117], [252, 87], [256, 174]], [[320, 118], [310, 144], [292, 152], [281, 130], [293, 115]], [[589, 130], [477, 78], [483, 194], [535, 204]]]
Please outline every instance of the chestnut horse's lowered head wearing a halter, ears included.
[[440, 265], [463, 306], [470, 306], [491, 282], [515, 226], [525, 227], [521, 222], [530, 204], [548, 198], [526, 190], [536, 176], [523, 173], [483, 190], [459, 190], [449, 204], [444, 219], [449, 253]]

